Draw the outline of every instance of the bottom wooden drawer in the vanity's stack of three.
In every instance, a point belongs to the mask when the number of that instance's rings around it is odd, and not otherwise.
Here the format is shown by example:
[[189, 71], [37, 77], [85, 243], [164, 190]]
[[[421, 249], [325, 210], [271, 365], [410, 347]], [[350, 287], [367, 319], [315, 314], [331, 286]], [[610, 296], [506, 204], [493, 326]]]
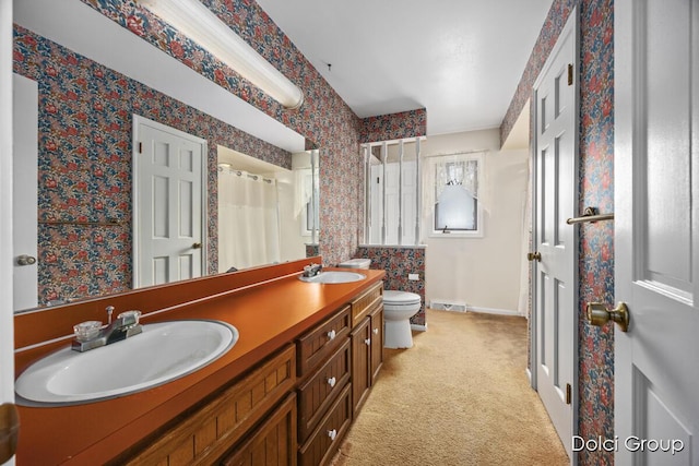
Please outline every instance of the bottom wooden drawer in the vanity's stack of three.
[[328, 415], [320, 421], [308, 441], [298, 451], [300, 466], [328, 464], [352, 422], [352, 384], [347, 384]]

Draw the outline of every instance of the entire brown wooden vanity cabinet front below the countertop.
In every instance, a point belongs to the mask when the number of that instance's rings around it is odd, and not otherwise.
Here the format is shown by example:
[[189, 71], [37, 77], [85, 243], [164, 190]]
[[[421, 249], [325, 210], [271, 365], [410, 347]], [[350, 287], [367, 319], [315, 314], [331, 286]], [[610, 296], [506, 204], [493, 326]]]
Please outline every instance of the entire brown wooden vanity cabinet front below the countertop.
[[111, 464], [328, 464], [383, 360], [382, 292], [376, 284]]

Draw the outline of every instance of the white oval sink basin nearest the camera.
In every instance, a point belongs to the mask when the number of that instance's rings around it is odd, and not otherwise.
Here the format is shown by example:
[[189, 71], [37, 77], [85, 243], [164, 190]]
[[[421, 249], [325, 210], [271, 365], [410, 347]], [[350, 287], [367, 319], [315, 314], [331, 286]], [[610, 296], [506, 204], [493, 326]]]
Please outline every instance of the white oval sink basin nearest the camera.
[[111, 345], [85, 353], [68, 347], [40, 359], [17, 378], [15, 392], [29, 405], [112, 398], [201, 369], [237, 340], [237, 328], [225, 322], [147, 324], [143, 325], [143, 333]]

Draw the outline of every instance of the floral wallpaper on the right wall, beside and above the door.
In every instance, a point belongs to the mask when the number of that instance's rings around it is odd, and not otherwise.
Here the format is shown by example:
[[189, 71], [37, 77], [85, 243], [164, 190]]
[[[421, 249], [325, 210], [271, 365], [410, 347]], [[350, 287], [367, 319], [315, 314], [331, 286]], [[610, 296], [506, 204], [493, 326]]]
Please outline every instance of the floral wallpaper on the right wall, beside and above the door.
[[[554, 0], [501, 127], [505, 141], [574, 7], [580, 15], [580, 204], [614, 212], [614, 1]], [[579, 243], [579, 435], [614, 438], [614, 327], [594, 327], [585, 303], [614, 307], [614, 224], [583, 224]], [[612, 465], [612, 452], [582, 451], [581, 465]]]

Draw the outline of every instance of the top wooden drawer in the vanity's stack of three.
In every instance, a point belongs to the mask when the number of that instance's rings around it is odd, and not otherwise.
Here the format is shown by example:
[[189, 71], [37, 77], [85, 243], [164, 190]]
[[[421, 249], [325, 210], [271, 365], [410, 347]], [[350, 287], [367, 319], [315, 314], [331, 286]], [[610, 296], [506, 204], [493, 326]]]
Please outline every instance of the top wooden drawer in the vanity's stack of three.
[[298, 377], [308, 374], [325, 360], [350, 335], [350, 306], [298, 339]]

